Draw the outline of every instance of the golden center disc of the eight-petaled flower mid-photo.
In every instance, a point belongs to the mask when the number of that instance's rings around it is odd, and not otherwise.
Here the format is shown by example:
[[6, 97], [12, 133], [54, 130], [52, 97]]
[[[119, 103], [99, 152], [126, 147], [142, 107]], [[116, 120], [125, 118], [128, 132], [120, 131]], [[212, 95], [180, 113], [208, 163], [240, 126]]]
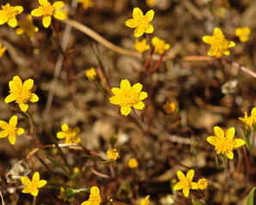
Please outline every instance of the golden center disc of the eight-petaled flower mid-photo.
[[120, 106], [135, 106], [139, 102], [139, 95], [132, 87], [120, 94]]

